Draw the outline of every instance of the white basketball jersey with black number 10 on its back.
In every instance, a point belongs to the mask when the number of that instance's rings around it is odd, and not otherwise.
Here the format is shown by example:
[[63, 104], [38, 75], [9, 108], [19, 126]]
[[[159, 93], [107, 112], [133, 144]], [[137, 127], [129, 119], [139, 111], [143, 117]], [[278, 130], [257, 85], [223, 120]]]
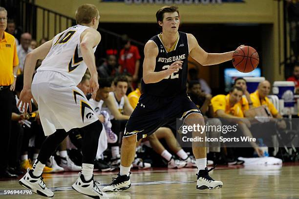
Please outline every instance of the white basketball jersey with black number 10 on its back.
[[[87, 66], [80, 49], [80, 36], [87, 26], [75, 25], [59, 33], [53, 39], [52, 47], [37, 71], [55, 71], [78, 85]], [[97, 46], [93, 48], [95, 52]]]

